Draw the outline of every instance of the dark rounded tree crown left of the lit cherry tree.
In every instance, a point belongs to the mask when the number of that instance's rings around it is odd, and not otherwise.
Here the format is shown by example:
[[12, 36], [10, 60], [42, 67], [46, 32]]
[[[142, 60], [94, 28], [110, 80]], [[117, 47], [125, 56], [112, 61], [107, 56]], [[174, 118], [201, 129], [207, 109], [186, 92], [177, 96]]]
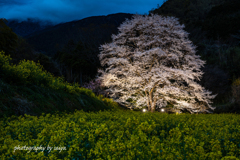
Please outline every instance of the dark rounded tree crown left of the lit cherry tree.
[[96, 51], [91, 46], [79, 41], [77, 44], [70, 40], [67, 45], [54, 56], [60, 64], [66, 67], [66, 79], [69, 82], [79, 82], [81, 85], [96, 74], [98, 64]]

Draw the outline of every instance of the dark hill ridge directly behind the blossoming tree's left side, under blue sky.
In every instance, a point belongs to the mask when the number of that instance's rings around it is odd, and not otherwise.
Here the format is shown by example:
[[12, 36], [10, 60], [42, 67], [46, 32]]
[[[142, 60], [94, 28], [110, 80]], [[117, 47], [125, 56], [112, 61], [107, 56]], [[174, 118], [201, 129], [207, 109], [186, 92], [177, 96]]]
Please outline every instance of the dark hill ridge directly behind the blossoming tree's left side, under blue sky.
[[132, 14], [127, 13], [88, 17], [48, 27], [26, 36], [26, 39], [35, 50], [50, 57], [70, 40], [82, 41], [98, 49], [101, 44], [111, 41], [111, 35], [117, 34], [119, 25], [131, 17]]

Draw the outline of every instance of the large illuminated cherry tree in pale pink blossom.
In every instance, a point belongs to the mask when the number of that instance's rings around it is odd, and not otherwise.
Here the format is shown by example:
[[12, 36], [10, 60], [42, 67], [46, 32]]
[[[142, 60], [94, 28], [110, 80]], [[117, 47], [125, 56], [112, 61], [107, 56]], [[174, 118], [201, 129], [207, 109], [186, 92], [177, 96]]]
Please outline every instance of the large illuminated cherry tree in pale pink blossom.
[[172, 104], [191, 113], [209, 112], [210, 99], [216, 95], [196, 80], [205, 64], [196, 55], [177, 18], [159, 15], [134, 15], [112, 35], [112, 43], [101, 45], [99, 59], [105, 70], [98, 80], [109, 96], [129, 108], [147, 107], [148, 111]]

